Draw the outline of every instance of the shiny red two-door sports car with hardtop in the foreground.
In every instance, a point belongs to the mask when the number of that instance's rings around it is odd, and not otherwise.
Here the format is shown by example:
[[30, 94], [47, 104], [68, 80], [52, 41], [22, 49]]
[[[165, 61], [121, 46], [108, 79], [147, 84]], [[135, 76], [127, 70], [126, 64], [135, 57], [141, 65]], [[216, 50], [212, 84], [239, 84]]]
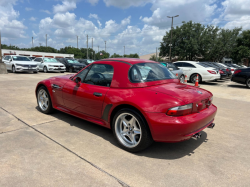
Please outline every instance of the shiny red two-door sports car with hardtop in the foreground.
[[217, 107], [204, 89], [180, 83], [158, 62], [116, 58], [96, 61], [77, 74], [38, 83], [40, 110], [53, 109], [113, 130], [127, 151], [153, 141], [179, 142], [214, 126]]

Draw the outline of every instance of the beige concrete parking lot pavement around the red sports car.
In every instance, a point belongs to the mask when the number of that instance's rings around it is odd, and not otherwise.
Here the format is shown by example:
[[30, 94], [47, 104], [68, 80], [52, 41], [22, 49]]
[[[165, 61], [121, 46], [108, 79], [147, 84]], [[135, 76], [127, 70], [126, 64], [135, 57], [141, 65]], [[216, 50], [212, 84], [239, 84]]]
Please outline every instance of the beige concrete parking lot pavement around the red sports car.
[[0, 75], [0, 186], [249, 186], [250, 90], [201, 84], [218, 107], [201, 139], [118, 147], [111, 130], [39, 112], [36, 84], [59, 73]]

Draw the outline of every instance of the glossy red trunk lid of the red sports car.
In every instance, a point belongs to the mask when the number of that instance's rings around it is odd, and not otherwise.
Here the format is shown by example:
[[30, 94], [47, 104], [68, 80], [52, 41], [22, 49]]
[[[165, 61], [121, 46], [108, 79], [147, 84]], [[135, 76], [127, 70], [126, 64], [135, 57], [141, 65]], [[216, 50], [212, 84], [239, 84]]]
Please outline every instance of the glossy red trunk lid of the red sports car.
[[147, 87], [146, 89], [170, 95], [186, 104], [202, 101], [212, 96], [212, 93], [207, 90], [181, 83], [161, 84]]

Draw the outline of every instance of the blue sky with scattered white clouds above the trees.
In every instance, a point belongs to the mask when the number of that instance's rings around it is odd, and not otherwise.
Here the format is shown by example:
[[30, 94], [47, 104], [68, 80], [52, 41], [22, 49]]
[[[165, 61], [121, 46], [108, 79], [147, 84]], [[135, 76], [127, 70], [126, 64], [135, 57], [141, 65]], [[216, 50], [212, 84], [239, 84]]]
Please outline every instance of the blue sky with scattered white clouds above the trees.
[[183, 21], [250, 29], [250, 0], [0, 0], [2, 43], [19, 47], [88, 45], [110, 54], [154, 53]]

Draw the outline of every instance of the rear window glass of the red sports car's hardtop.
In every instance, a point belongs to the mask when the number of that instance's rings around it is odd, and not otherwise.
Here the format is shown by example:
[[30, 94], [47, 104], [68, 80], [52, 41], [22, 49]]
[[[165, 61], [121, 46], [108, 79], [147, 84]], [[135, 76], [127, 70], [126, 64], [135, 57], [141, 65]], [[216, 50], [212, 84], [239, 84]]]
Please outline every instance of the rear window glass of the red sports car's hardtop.
[[176, 77], [160, 63], [140, 63], [132, 66], [129, 78], [131, 82], [150, 82]]

